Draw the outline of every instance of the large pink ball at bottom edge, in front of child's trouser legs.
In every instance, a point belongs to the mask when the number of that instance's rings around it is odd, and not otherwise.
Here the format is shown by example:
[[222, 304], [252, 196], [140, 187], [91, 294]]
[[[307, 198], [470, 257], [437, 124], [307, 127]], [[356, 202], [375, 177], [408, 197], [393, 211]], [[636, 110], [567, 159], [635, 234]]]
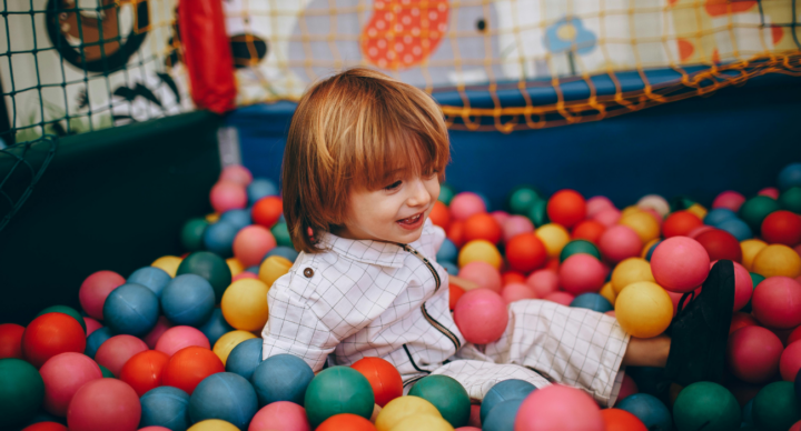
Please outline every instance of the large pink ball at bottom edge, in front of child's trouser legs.
[[601, 409], [580, 389], [552, 384], [521, 404], [514, 431], [604, 431]]

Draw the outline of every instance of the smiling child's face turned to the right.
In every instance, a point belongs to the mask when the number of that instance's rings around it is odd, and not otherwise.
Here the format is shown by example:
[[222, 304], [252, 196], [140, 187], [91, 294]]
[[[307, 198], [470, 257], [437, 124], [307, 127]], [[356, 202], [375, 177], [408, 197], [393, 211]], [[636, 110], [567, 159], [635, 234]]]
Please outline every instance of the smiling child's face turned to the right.
[[390, 177], [378, 190], [352, 189], [343, 238], [409, 243], [423, 232], [434, 202], [439, 197], [436, 173]]

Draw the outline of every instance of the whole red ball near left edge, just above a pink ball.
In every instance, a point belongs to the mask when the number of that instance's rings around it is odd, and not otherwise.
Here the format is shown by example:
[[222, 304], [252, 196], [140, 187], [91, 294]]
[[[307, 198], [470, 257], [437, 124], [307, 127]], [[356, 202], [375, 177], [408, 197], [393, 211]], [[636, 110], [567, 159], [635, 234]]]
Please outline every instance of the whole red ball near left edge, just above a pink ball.
[[22, 354], [36, 368], [59, 353], [83, 353], [83, 327], [65, 313], [42, 314], [33, 319], [22, 334]]

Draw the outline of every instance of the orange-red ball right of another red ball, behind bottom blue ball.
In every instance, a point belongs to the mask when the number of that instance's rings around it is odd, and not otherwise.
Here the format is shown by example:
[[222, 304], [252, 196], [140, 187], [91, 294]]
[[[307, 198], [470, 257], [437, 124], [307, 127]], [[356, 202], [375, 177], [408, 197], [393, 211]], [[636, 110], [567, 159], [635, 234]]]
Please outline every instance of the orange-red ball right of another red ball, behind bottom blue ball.
[[170, 358], [161, 373], [161, 382], [191, 395], [200, 381], [218, 372], [225, 372], [219, 357], [208, 349], [192, 345]]

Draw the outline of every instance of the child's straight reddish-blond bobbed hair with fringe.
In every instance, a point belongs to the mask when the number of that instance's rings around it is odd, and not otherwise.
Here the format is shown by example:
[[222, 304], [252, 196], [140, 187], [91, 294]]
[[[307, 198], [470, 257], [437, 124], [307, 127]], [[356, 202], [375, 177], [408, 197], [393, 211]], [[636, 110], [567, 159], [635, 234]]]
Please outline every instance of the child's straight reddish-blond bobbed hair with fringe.
[[442, 178], [449, 157], [442, 110], [424, 91], [363, 68], [315, 83], [284, 151], [284, 217], [295, 248], [322, 251], [316, 239], [344, 223], [352, 187], [377, 190], [398, 169]]

